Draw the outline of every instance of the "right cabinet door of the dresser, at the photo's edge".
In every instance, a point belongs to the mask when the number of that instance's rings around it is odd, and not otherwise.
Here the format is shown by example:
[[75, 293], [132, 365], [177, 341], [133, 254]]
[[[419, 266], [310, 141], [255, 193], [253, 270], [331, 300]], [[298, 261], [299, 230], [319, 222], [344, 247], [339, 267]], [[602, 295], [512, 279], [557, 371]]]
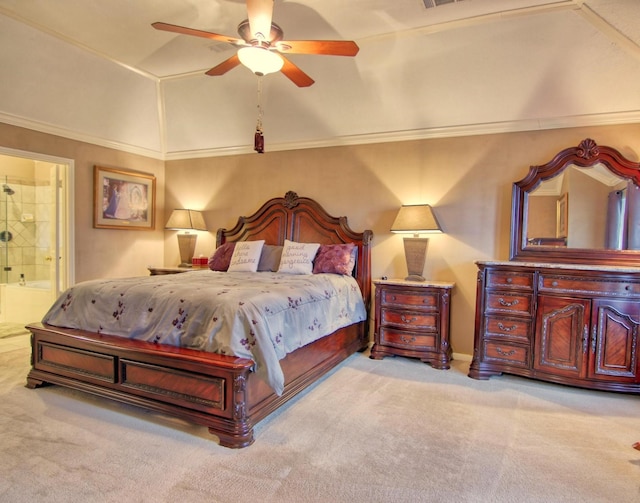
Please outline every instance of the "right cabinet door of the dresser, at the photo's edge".
[[589, 377], [617, 382], [640, 382], [638, 324], [640, 303], [595, 299]]

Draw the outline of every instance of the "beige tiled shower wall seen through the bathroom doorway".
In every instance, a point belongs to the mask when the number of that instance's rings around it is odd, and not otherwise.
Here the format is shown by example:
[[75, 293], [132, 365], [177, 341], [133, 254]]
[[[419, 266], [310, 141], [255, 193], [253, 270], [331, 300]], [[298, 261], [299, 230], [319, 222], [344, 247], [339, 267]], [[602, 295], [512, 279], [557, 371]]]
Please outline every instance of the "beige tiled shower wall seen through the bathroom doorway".
[[0, 230], [6, 228], [13, 238], [0, 243], [0, 265], [11, 267], [2, 279], [17, 283], [20, 274], [27, 281], [49, 279], [50, 187], [10, 178], [7, 183], [15, 193], [0, 196]]

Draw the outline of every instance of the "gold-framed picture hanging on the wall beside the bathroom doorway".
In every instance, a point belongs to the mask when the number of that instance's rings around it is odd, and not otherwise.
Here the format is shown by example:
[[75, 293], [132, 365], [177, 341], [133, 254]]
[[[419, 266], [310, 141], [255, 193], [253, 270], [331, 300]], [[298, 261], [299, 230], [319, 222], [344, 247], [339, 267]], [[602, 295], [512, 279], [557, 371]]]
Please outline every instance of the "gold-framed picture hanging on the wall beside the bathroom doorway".
[[155, 228], [155, 176], [95, 166], [93, 185], [95, 228]]

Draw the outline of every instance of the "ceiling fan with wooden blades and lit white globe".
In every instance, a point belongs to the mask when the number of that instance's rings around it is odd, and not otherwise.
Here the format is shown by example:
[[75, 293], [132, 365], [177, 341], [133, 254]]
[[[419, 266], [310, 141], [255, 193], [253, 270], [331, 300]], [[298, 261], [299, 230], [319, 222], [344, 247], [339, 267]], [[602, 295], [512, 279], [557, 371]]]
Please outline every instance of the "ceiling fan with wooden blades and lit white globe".
[[238, 34], [242, 38], [161, 22], [152, 26], [157, 30], [208, 38], [240, 47], [236, 54], [206, 72], [211, 76], [223, 75], [243, 64], [259, 76], [282, 71], [297, 86], [308, 87], [314, 83], [313, 79], [287, 59], [285, 54], [355, 56], [358, 53], [359, 47], [353, 41], [283, 40], [282, 28], [272, 21], [273, 3], [274, 0], [247, 0], [248, 19], [238, 25]]

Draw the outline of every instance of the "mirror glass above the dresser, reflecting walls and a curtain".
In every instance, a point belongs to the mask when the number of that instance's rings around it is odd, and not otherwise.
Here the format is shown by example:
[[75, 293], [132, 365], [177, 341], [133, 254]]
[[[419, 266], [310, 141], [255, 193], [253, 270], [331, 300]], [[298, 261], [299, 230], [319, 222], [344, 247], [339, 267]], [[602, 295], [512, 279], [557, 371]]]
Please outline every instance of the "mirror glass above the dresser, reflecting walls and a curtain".
[[640, 249], [640, 190], [602, 163], [567, 166], [526, 197], [528, 246]]

